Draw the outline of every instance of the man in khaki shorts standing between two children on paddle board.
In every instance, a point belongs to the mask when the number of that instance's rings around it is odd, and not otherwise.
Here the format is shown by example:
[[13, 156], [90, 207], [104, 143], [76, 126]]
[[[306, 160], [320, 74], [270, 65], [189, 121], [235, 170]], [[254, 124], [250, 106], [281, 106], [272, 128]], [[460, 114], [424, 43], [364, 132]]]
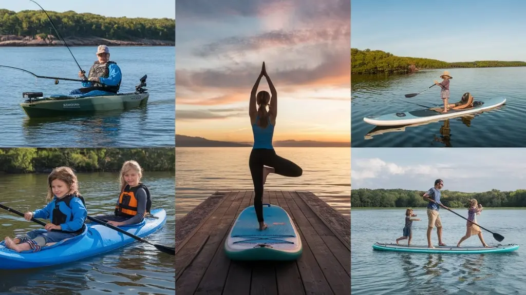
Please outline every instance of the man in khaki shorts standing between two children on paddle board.
[[428, 248], [434, 248], [431, 244], [431, 231], [433, 230], [433, 226], [437, 227], [437, 235], [438, 235], [438, 245], [439, 246], [446, 246], [446, 244], [442, 243], [442, 222], [440, 220], [440, 214], [438, 210], [440, 207], [448, 208], [442, 203], [440, 203], [440, 189], [444, 186], [444, 182], [441, 179], [438, 179], [434, 181], [434, 187], [431, 187], [429, 191], [424, 193], [422, 197], [429, 201], [427, 206], [427, 215], [428, 215], [428, 231], [427, 231], [427, 238], [428, 238]]

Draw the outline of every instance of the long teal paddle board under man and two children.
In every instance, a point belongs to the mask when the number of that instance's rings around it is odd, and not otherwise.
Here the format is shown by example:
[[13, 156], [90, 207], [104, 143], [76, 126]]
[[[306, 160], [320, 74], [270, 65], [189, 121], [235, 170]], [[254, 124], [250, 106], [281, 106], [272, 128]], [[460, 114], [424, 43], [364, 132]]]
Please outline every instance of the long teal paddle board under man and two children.
[[406, 252], [406, 253], [424, 253], [424, 254], [489, 254], [489, 253], [507, 253], [519, 249], [517, 244], [497, 245], [491, 248], [484, 248], [480, 246], [435, 246], [435, 248], [428, 248], [427, 246], [407, 246], [397, 244], [382, 244], [375, 243], [372, 245], [373, 250], [377, 251], [392, 251], [392, 252]]

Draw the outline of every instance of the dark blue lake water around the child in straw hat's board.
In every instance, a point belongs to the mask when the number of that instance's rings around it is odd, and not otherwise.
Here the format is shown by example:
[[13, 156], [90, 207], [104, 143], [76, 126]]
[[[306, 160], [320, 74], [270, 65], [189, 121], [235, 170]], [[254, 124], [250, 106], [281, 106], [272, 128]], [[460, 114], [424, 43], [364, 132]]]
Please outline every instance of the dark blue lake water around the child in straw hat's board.
[[422, 109], [442, 103], [440, 88], [433, 84], [443, 70], [420, 71], [413, 75], [352, 77], [352, 146], [367, 147], [524, 147], [526, 137], [521, 126], [526, 124], [524, 97], [526, 68], [449, 69], [450, 102], [457, 102], [465, 92], [475, 100], [505, 98], [504, 106], [482, 114], [453, 118], [446, 121], [400, 128], [375, 128], [364, 117]]

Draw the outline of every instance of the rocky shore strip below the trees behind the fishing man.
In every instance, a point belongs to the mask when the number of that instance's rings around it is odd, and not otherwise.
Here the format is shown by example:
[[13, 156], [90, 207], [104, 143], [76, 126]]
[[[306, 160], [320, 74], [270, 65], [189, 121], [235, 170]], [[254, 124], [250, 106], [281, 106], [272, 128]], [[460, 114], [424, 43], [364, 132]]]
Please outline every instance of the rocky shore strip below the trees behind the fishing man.
[[[175, 46], [175, 41], [167, 40], [150, 40], [150, 39], [136, 39], [133, 41], [110, 40], [99, 37], [66, 37], [64, 38], [68, 46]], [[63, 46], [62, 42], [53, 35], [41, 36], [16, 36], [16, 35], [0, 35], [0, 46]]]

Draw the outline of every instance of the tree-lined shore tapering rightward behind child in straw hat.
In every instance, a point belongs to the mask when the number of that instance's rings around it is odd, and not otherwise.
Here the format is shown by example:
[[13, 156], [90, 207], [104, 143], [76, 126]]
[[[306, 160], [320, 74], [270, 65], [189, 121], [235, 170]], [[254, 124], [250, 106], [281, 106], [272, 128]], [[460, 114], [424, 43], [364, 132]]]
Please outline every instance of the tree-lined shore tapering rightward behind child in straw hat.
[[382, 50], [351, 48], [351, 75], [407, 74], [422, 69], [526, 67], [524, 61], [476, 60], [447, 62], [400, 57]]

